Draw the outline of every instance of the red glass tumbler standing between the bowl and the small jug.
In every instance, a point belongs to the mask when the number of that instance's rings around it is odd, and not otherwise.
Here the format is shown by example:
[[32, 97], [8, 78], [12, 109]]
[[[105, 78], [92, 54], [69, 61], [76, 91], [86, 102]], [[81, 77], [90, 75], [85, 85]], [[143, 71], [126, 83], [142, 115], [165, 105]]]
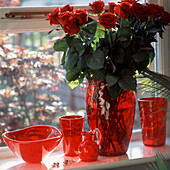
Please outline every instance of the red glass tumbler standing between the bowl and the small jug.
[[61, 116], [59, 121], [65, 156], [78, 156], [78, 147], [82, 142], [84, 117], [79, 115]]

